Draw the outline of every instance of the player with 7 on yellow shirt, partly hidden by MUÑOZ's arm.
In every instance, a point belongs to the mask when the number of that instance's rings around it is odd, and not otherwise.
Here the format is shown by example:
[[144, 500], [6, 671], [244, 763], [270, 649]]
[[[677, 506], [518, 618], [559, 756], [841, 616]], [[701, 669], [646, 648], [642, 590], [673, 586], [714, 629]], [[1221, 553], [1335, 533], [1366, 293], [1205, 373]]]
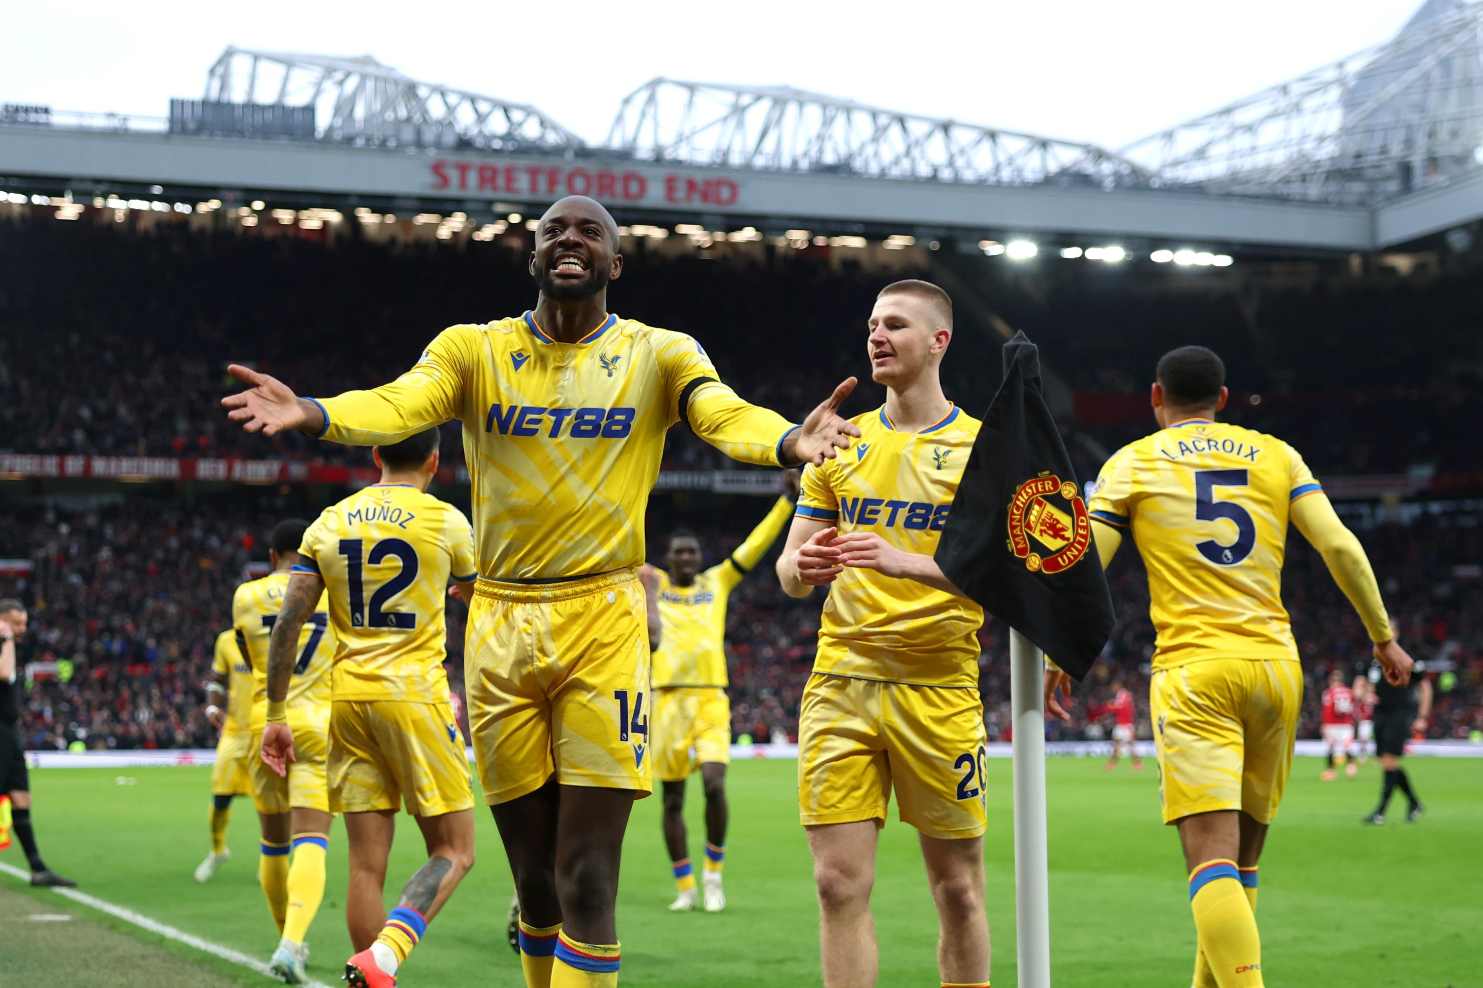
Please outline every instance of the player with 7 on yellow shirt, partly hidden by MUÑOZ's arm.
[[[277, 717], [298, 739], [288, 766], [262, 748], [268, 723], [268, 641], [277, 624], [289, 572], [298, 563], [298, 547], [307, 521], [279, 521], [268, 536], [273, 572], [237, 587], [231, 597], [231, 622], [237, 644], [252, 665], [252, 801], [262, 824], [262, 856], [258, 881], [279, 929], [279, 945], [268, 960], [273, 975], [291, 985], [303, 984], [308, 948], [304, 936], [325, 898], [325, 853], [329, 849], [329, 788], [325, 755], [329, 745], [329, 662], [335, 635], [329, 628], [328, 601], [320, 595], [308, 619], [294, 635], [294, 672], [286, 704]], [[292, 855], [292, 859], [291, 859]]]

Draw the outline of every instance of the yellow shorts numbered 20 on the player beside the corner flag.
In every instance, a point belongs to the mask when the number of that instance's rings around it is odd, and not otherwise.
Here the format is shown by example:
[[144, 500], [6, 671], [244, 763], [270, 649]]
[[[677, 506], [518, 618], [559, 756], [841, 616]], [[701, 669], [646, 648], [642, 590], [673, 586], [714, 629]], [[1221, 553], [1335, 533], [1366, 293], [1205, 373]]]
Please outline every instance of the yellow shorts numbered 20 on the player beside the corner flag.
[[897, 812], [928, 837], [979, 837], [988, 738], [976, 689], [813, 674], [798, 714], [804, 827], [885, 824]]

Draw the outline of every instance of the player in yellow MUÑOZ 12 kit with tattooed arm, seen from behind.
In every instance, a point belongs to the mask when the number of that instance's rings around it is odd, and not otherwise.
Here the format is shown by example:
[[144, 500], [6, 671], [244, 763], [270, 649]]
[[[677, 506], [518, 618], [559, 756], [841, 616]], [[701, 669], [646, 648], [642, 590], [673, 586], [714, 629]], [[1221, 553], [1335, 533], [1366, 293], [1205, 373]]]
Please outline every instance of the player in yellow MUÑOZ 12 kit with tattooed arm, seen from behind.
[[[326, 508], [308, 526], [268, 658], [264, 747], [285, 758], [294, 735], [277, 718], [294, 640], [322, 594], [340, 643], [329, 715], [329, 809], [350, 841], [346, 921], [354, 957], [346, 981], [392, 988], [427, 924], [473, 867], [473, 794], [449, 705], [448, 582], [473, 598], [469, 518], [427, 493], [437, 475], [436, 428], [372, 450], [381, 481]], [[400, 806], [417, 821], [427, 864], [383, 905]]]

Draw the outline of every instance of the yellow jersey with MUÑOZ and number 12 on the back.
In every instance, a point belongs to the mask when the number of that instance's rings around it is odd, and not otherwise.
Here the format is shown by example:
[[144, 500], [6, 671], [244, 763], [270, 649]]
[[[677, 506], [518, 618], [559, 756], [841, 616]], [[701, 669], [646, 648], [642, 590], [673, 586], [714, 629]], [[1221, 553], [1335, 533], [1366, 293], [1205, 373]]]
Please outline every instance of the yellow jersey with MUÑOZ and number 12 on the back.
[[329, 594], [335, 699], [448, 701], [448, 578], [476, 576], [463, 511], [372, 484], [308, 526], [294, 570], [317, 573]]

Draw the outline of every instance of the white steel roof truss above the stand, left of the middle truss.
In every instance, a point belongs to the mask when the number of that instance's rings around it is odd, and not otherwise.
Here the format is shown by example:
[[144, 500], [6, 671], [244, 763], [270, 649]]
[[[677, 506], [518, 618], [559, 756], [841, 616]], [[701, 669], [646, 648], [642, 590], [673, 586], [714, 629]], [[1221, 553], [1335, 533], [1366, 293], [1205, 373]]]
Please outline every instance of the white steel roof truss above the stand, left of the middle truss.
[[313, 107], [316, 139], [357, 147], [564, 153], [584, 147], [535, 107], [417, 81], [369, 55], [227, 46], [206, 74], [203, 102]]

